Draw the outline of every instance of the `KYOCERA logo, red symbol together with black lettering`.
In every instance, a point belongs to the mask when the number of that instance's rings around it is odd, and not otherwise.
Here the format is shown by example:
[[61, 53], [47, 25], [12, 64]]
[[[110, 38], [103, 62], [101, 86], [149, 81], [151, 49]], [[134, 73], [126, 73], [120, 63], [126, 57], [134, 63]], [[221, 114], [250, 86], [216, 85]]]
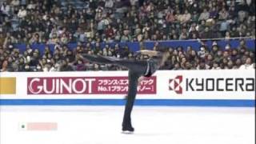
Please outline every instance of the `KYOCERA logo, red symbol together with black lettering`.
[[169, 90], [177, 94], [184, 91], [255, 91], [255, 78], [185, 78], [182, 75], [169, 79]]

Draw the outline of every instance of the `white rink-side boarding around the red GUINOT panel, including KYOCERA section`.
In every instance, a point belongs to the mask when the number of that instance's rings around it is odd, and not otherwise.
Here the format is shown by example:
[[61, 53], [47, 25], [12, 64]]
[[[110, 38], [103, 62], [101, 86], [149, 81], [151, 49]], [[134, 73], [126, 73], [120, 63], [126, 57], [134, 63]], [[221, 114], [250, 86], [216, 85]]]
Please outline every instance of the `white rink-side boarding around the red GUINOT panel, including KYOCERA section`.
[[[156, 78], [155, 93], [153, 92], [152, 94], [138, 94], [137, 98], [138, 99], [249, 99], [251, 100], [255, 98], [254, 72], [255, 72], [254, 70], [158, 70], [153, 75]], [[74, 78], [73, 81], [75, 81], [75, 78], [79, 78], [79, 77], [114, 78], [114, 77], [127, 77], [127, 74], [128, 74], [127, 71], [1, 73], [2, 78], [5, 78], [5, 77], [16, 78], [16, 94], [1, 94], [0, 98], [2, 99], [61, 99], [61, 98], [122, 99], [126, 94], [28, 94], [28, 91], [30, 90], [30, 84], [28, 84], [28, 78], [69, 77], [69, 78]], [[182, 81], [179, 81], [177, 76], [181, 76]], [[229, 86], [228, 86], [228, 90], [225, 90], [227, 78], [229, 78], [228, 80]], [[191, 80], [191, 79], [194, 79], [194, 80]], [[238, 81], [236, 81], [237, 79]], [[171, 80], [172, 82], [170, 82]], [[196, 80], [198, 80], [198, 84], [196, 83]], [[178, 86], [175, 87], [174, 81], [178, 83]], [[204, 84], [202, 85], [203, 87], [201, 86], [202, 81], [204, 82]], [[208, 82], [207, 84], [206, 84], [206, 81]], [[213, 82], [214, 82], [214, 86], [213, 86]], [[237, 84], [235, 82], [237, 82]], [[36, 82], [33, 83], [33, 86], [34, 84], [36, 84]], [[179, 86], [182, 87], [182, 94], [177, 93], [178, 89], [180, 88]], [[216, 88], [217, 86], [221, 90], [217, 90]], [[71, 87], [70, 89], [74, 89], [74, 87], [75, 85], [73, 86], [73, 88]], [[208, 87], [211, 90], [206, 90], [206, 87]], [[201, 88], [202, 90], [199, 90]], [[84, 90], [87, 90], [87, 89], [94, 89], [94, 86], [86, 85], [86, 87], [84, 87]], [[194, 91], [192, 89], [194, 89]]]

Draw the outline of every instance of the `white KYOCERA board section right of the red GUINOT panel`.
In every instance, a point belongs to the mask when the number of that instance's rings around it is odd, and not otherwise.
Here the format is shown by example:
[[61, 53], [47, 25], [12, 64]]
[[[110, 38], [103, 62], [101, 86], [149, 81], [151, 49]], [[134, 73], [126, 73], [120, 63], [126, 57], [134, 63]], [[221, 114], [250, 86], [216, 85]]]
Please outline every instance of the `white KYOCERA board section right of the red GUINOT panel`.
[[168, 98], [254, 99], [254, 70], [159, 71], [158, 95]]

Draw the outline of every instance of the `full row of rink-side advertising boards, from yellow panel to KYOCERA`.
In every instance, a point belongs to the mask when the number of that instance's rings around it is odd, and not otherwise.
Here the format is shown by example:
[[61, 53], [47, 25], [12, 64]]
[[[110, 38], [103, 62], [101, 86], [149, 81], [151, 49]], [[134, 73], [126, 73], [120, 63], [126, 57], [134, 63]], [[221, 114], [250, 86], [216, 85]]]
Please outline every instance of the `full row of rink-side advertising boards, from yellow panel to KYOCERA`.
[[[153, 100], [150, 101], [153, 103], [165, 103], [167, 100], [245, 100], [254, 105], [254, 72], [255, 70], [158, 70], [152, 77], [138, 84], [136, 99]], [[71, 100], [78, 100], [75, 102], [79, 103], [82, 99], [123, 101], [129, 90], [127, 75], [127, 71], [1, 73], [0, 100], [46, 99], [50, 102], [64, 102], [68, 99], [65, 104]], [[122, 101], [118, 101], [119, 104], [123, 104]]]

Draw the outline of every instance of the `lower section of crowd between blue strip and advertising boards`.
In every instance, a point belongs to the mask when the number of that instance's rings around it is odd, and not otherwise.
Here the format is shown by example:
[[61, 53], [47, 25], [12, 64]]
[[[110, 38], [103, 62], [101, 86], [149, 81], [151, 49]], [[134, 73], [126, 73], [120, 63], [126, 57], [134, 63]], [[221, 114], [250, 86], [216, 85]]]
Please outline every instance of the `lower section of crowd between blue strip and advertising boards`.
[[[80, 58], [80, 54], [98, 54], [116, 58], [146, 59], [147, 55], [136, 55], [127, 46], [104, 46], [103, 48], [80, 45], [73, 50], [66, 45], [54, 46], [51, 51], [48, 46], [40, 54], [38, 49], [26, 46], [26, 51], [9, 46], [0, 47], [0, 70], [4, 71], [83, 71], [83, 70], [126, 70], [113, 65], [98, 65]], [[143, 47], [143, 46], [142, 46]], [[192, 46], [162, 47], [158, 42], [154, 50], [166, 49], [169, 58], [161, 70], [219, 70], [219, 69], [255, 69], [255, 52], [246, 47], [241, 40], [238, 48], [227, 44], [224, 47], [213, 42], [212, 46], [202, 43], [200, 50]], [[144, 49], [144, 48], [143, 48]]]

